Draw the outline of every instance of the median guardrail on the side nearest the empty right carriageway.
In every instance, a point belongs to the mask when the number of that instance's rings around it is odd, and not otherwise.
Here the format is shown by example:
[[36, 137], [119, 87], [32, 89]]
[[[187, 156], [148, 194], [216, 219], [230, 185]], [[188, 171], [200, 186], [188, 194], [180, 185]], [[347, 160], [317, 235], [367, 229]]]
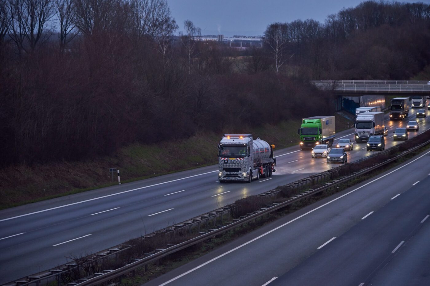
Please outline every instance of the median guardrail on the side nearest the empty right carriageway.
[[[300, 193], [300, 195], [295, 195], [295, 197], [290, 197], [291, 198], [290, 200], [285, 201], [283, 203], [279, 203], [279, 204], [273, 203], [273, 205], [267, 206], [267, 208], [261, 208], [260, 210], [256, 210], [253, 213], [249, 213], [247, 216], [241, 217], [239, 220], [237, 220], [236, 222], [231, 223], [230, 225], [223, 226], [223, 227], [218, 228], [216, 230], [213, 230], [213, 231], [211, 231], [209, 233], [203, 234], [203, 235], [201, 235], [199, 237], [195, 237], [195, 238], [193, 238], [191, 240], [185, 241], [183, 243], [179, 243], [179, 244], [177, 244], [175, 246], [171, 246], [171, 247], [169, 247], [167, 249], [164, 249], [164, 250], [160, 251], [159, 253], [156, 253], [156, 254], [154, 254], [154, 255], [152, 255], [150, 257], [140, 259], [140, 260], [138, 260], [136, 262], [133, 262], [133, 263], [131, 263], [129, 265], [125, 265], [122, 268], [118, 268], [118, 269], [116, 269], [114, 271], [110, 271], [110, 272], [108, 272], [106, 274], [100, 274], [100, 275], [97, 275], [95, 277], [89, 278], [88, 280], [82, 281], [81, 283], [78, 283], [76, 285], [80, 285], [80, 286], [84, 286], [84, 285], [96, 285], [96, 284], [99, 284], [99, 283], [107, 282], [107, 281], [112, 280], [112, 279], [114, 279], [116, 277], [119, 277], [121, 275], [127, 274], [130, 271], [135, 270], [136, 268], [140, 268], [140, 267], [142, 267], [142, 266], [144, 266], [144, 265], [146, 265], [148, 263], [155, 262], [158, 259], [161, 259], [161, 258], [163, 258], [165, 256], [168, 256], [168, 255], [170, 255], [172, 253], [175, 253], [176, 251], [179, 251], [179, 250], [185, 249], [187, 247], [193, 246], [193, 245], [195, 245], [197, 243], [203, 242], [203, 241], [209, 239], [210, 237], [214, 237], [216, 235], [223, 234], [224, 232], [230, 231], [233, 228], [236, 228], [236, 227], [238, 227], [240, 225], [243, 225], [245, 223], [251, 222], [252, 220], [255, 220], [255, 219], [257, 219], [257, 218], [259, 218], [261, 216], [267, 215], [267, 214], [269, 214], [269, 213], [271, 213], [273, 211], [279, 210], [279, 209], [281, 209], [283, 207], [286, 207], [286, 206], [288, 206], [290, 204], [293, 204], [293, 203], [295, 203], [297, 201], [300, 201], [303, 198], [307, 198], [307, 197], [309, 197], [311, 195], [315, 195], [315, 194], [317, 194], [319, 192], [322, 192], [322, 191], [324, 191], [326, 189], [330, 189], [332, 187], [335, 187], [338, 184], [344, 183], [344, 182], [346, 182], [348, 180], [352, 180], [352, 179], [354, 179], [354, 178], [356, 178], [358, 176], [362, 176], [362, 175], [364, 175], [366, 173], [369, 173], [372, 170], [378, 169], [378, 168], [380, 168], [380, 167], [382, 167], [382, 166], [384, 166], [386, 164], [389, 164], [390, 162], [395, 161], [395, 160], [401, 158], [402, 156], [405, 156], [405, 155], [407, 155], [407, 154], [409, 154], [409, 153], [411, 153], [411, 152], [413, 152], [415, 150], [418, 150], [419, 148], [421, 148], [421, 147], [423, 147], [423, 146], [425, 146], [425, 145], [427, 145], [429, 143], [430, 143], [430, 140], [427, 140], [425, 143], [422, 143], [422, 144], [420, 144], [418, 146], [412, 147], [412, 148], [410, 148], [410, 149], [402, 152], [401, 154], [399, 154], [399, 155], [397, 155], [397, 156], [395, 156], [395, 157], [393, 157], [391, 159], [388, 159], [387, 161], [384, 161], [384, 162], [379, 163], [379, 164], [375, 164], [374, 166], [366, 168], [365, 170], [359, 170], [359, 171], [356, 171], [356, 172], [354, 172], [354, 173], [352, 173], [350, 175], [343, 176], [343, 177], [339, 178], [338, 180], [333, 180], [330, 183], [326, 183], [325, 186], [322, 186], [322, 187], [319, 187], [319, 188], [314, 188], [314, 189], [312, 189], [310, 191], [304, 191], [304, 192]], [[387, 149], [386, 151], [388, 152], [388, 150], [390, 150], [390, 149]]]

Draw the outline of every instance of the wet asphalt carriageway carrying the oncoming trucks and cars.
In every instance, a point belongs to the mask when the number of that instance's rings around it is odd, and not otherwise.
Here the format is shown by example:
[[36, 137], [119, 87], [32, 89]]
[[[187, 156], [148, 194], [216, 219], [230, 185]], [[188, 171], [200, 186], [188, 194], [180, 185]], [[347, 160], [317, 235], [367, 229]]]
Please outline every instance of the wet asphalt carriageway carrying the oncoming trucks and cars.
[[[420, 131], [409, 132], [409, 138], [427, 130], [429, 118], [418, 119]], [[402, 122], [387, 120], [390, 133], [386, 148], [400, 143], [392, 141], [391, 131], [405, 126], [410, 119], [415, 116]], [[353, 128], [336, 135], [337, 139], [353, 139]], [[372, 152], [366, 152], [365, 143], [361, 143], [355, 144], [348, 154], [350, 162]], [[301, 151], [298, 145], [275, 149], [275, 156], [276, 173], [251, 184], [221, 184], [217, 166], [212, 165], [2, 210], [0, 283], [47, 270], [70, 262], [73, 257], [107, 249], [239, 198], [337, 166], [327, 164], [325, 158], [311, 158], [310, 151]]]

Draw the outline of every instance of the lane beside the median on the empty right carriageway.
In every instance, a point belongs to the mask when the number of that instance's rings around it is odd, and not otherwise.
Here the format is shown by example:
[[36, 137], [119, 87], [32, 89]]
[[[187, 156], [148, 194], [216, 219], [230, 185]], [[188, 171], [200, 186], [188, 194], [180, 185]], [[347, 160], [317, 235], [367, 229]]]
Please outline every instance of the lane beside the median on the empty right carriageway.
[[[163, 285], [177, 277], [168, 285], [186, 285], [193, 281], [202, 281], [202, 285], [217, 285], [221, 283], [221, 279], [230, 281], [231, 285], [262, 285], [292, 269], [316, 252], [317, 247], [324, 242], [333, 236], [340, 236], [360, 222], [363, 216], [377, 211], [399, 192], [409, 189], [415, 183], [416, 177], [407, 176], [405, 180], [396, 182], [399, 176], [415, 173], [422, 180], [430, 171], [419, 168], [429, 164], [428, 152], [423, 153], [418, 159], [408, 160], [376, 179], [363, 182], [264, 225], [194, 262], [148, 282], [147, 285]], [[396, 186], [402, 191], [387, 188], [393, 182], [396, 182]], [[402, 195], [397, 196], [398, 199], [401, 197]], [[283, 227], [276, 229], [282, 225]], [[267, 234], [269, 231], [273, 233]], [[263, 235], [264, 238], [261, 237]], [[223, 273], [223, 276], [218, 279], [216, 274], [219, 273]], [[179, 277], [180, 275], [183, 276]]]

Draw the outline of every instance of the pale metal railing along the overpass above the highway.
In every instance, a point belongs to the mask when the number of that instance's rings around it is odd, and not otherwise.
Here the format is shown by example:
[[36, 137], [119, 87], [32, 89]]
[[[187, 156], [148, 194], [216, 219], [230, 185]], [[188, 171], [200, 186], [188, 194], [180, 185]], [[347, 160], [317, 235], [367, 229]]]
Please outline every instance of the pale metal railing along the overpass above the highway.
[[389, 81], [389, 80], [311, 80], [317, 88], [334, 91], [365, 92], [424, 92], [430, 93], [426, 81]]

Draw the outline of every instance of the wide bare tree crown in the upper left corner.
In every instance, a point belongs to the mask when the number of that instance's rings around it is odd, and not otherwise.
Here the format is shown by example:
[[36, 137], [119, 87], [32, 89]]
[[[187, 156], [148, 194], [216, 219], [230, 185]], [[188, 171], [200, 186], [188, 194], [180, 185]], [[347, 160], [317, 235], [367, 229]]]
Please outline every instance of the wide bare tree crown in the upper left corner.
[[52, 35], [48, 22], [53, 16], [50, 0], [6, 0], [10, 18], [9, 36], [19, 52], [34, 51]]

